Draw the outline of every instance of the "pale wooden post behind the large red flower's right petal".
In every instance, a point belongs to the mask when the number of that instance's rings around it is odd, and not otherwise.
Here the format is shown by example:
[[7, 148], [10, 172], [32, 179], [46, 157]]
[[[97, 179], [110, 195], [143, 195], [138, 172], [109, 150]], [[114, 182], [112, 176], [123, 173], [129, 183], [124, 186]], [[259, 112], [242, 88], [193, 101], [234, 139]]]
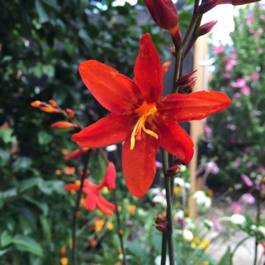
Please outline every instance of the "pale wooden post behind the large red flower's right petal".
[[[205, 79], [205, 66], [206, 66], [206, 54], [207, 54], [207, 35], [199, 37], [195, 43], [194, 48], [194, 59], [193, 59], [193, 69], [197, 70], [197, 83], [193, 91], [202, 91], [204, 90], [205, 82], [208, 80]], [[198, 162], [198, 139], [199, 135], [202, 135], [202, 121], [190, 121], [190, 137], [194, 142], [194, 156], [190, 161], [189, 170], [190, 170], [190, 194], [189, 197], [189, 213], [190, 218], [195, 220], [197, 218], [197, 205], [195, 199], [192, 198], [192, 194], [197, 191], [198, 184], [196, 169]]]

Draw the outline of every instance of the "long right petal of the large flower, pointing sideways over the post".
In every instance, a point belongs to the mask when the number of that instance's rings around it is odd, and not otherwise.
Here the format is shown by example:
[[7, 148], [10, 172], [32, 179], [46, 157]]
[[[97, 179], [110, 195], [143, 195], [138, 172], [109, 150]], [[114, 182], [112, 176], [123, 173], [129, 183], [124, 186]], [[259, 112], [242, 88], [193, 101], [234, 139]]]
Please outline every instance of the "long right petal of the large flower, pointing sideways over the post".
[[198, 91], [170, 94], [157, 103], [161, 116], [168, 116], [177, 122], [201, 120], [229, 106], [231, 100], [221, 92]]

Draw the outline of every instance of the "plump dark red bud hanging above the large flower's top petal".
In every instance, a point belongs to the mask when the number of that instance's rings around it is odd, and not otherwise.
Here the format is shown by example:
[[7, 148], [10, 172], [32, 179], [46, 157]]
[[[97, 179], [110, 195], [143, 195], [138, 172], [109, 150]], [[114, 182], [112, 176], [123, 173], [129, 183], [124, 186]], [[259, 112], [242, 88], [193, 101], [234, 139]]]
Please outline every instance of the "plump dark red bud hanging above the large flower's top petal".
[[172, 39], [181, 44], [179, 15], [172, 0], [144, 0], [154, 22], [162, 29], [172, 33]]

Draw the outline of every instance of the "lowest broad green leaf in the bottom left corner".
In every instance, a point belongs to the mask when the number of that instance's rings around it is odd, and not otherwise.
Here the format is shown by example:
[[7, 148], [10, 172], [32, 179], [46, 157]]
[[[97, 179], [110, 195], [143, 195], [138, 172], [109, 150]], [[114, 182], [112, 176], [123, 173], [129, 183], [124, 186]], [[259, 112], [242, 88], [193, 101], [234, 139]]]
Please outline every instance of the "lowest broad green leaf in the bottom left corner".
[[42, 246], [35, 239], [32, 239], [29, 236], [16, 235], [14, 236], [12, 242], [15, 244], [17, 250], [27, 251], [33, 255], [43, 257]]

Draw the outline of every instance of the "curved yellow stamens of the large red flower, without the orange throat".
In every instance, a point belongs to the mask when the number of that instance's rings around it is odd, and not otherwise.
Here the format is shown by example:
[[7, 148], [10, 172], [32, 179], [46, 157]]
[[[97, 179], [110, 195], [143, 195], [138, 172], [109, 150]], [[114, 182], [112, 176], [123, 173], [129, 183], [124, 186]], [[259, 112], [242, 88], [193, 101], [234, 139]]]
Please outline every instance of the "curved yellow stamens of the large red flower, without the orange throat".
[[158, 139], [158, 135], [156, 134], [156, 132], [153, 132], [153, 130], [146, 129], [144, 124], [146, 118], [155, 113], [156, 113], [156, 107], [152, 107], [151, 109], [149, 109], [149, 112], [146, 112], [139, 117], [137, 123], [135, 124], [135, 127], [132, 130], [132, 135], [130, 137], [130, 150], [133, 150], [135, 147], [135, 137], [137, 140], [142, 139], [141, 130], [144, 130], [144, 132], [146, 132], [148, 135], [151, 135], [151, 137]]

